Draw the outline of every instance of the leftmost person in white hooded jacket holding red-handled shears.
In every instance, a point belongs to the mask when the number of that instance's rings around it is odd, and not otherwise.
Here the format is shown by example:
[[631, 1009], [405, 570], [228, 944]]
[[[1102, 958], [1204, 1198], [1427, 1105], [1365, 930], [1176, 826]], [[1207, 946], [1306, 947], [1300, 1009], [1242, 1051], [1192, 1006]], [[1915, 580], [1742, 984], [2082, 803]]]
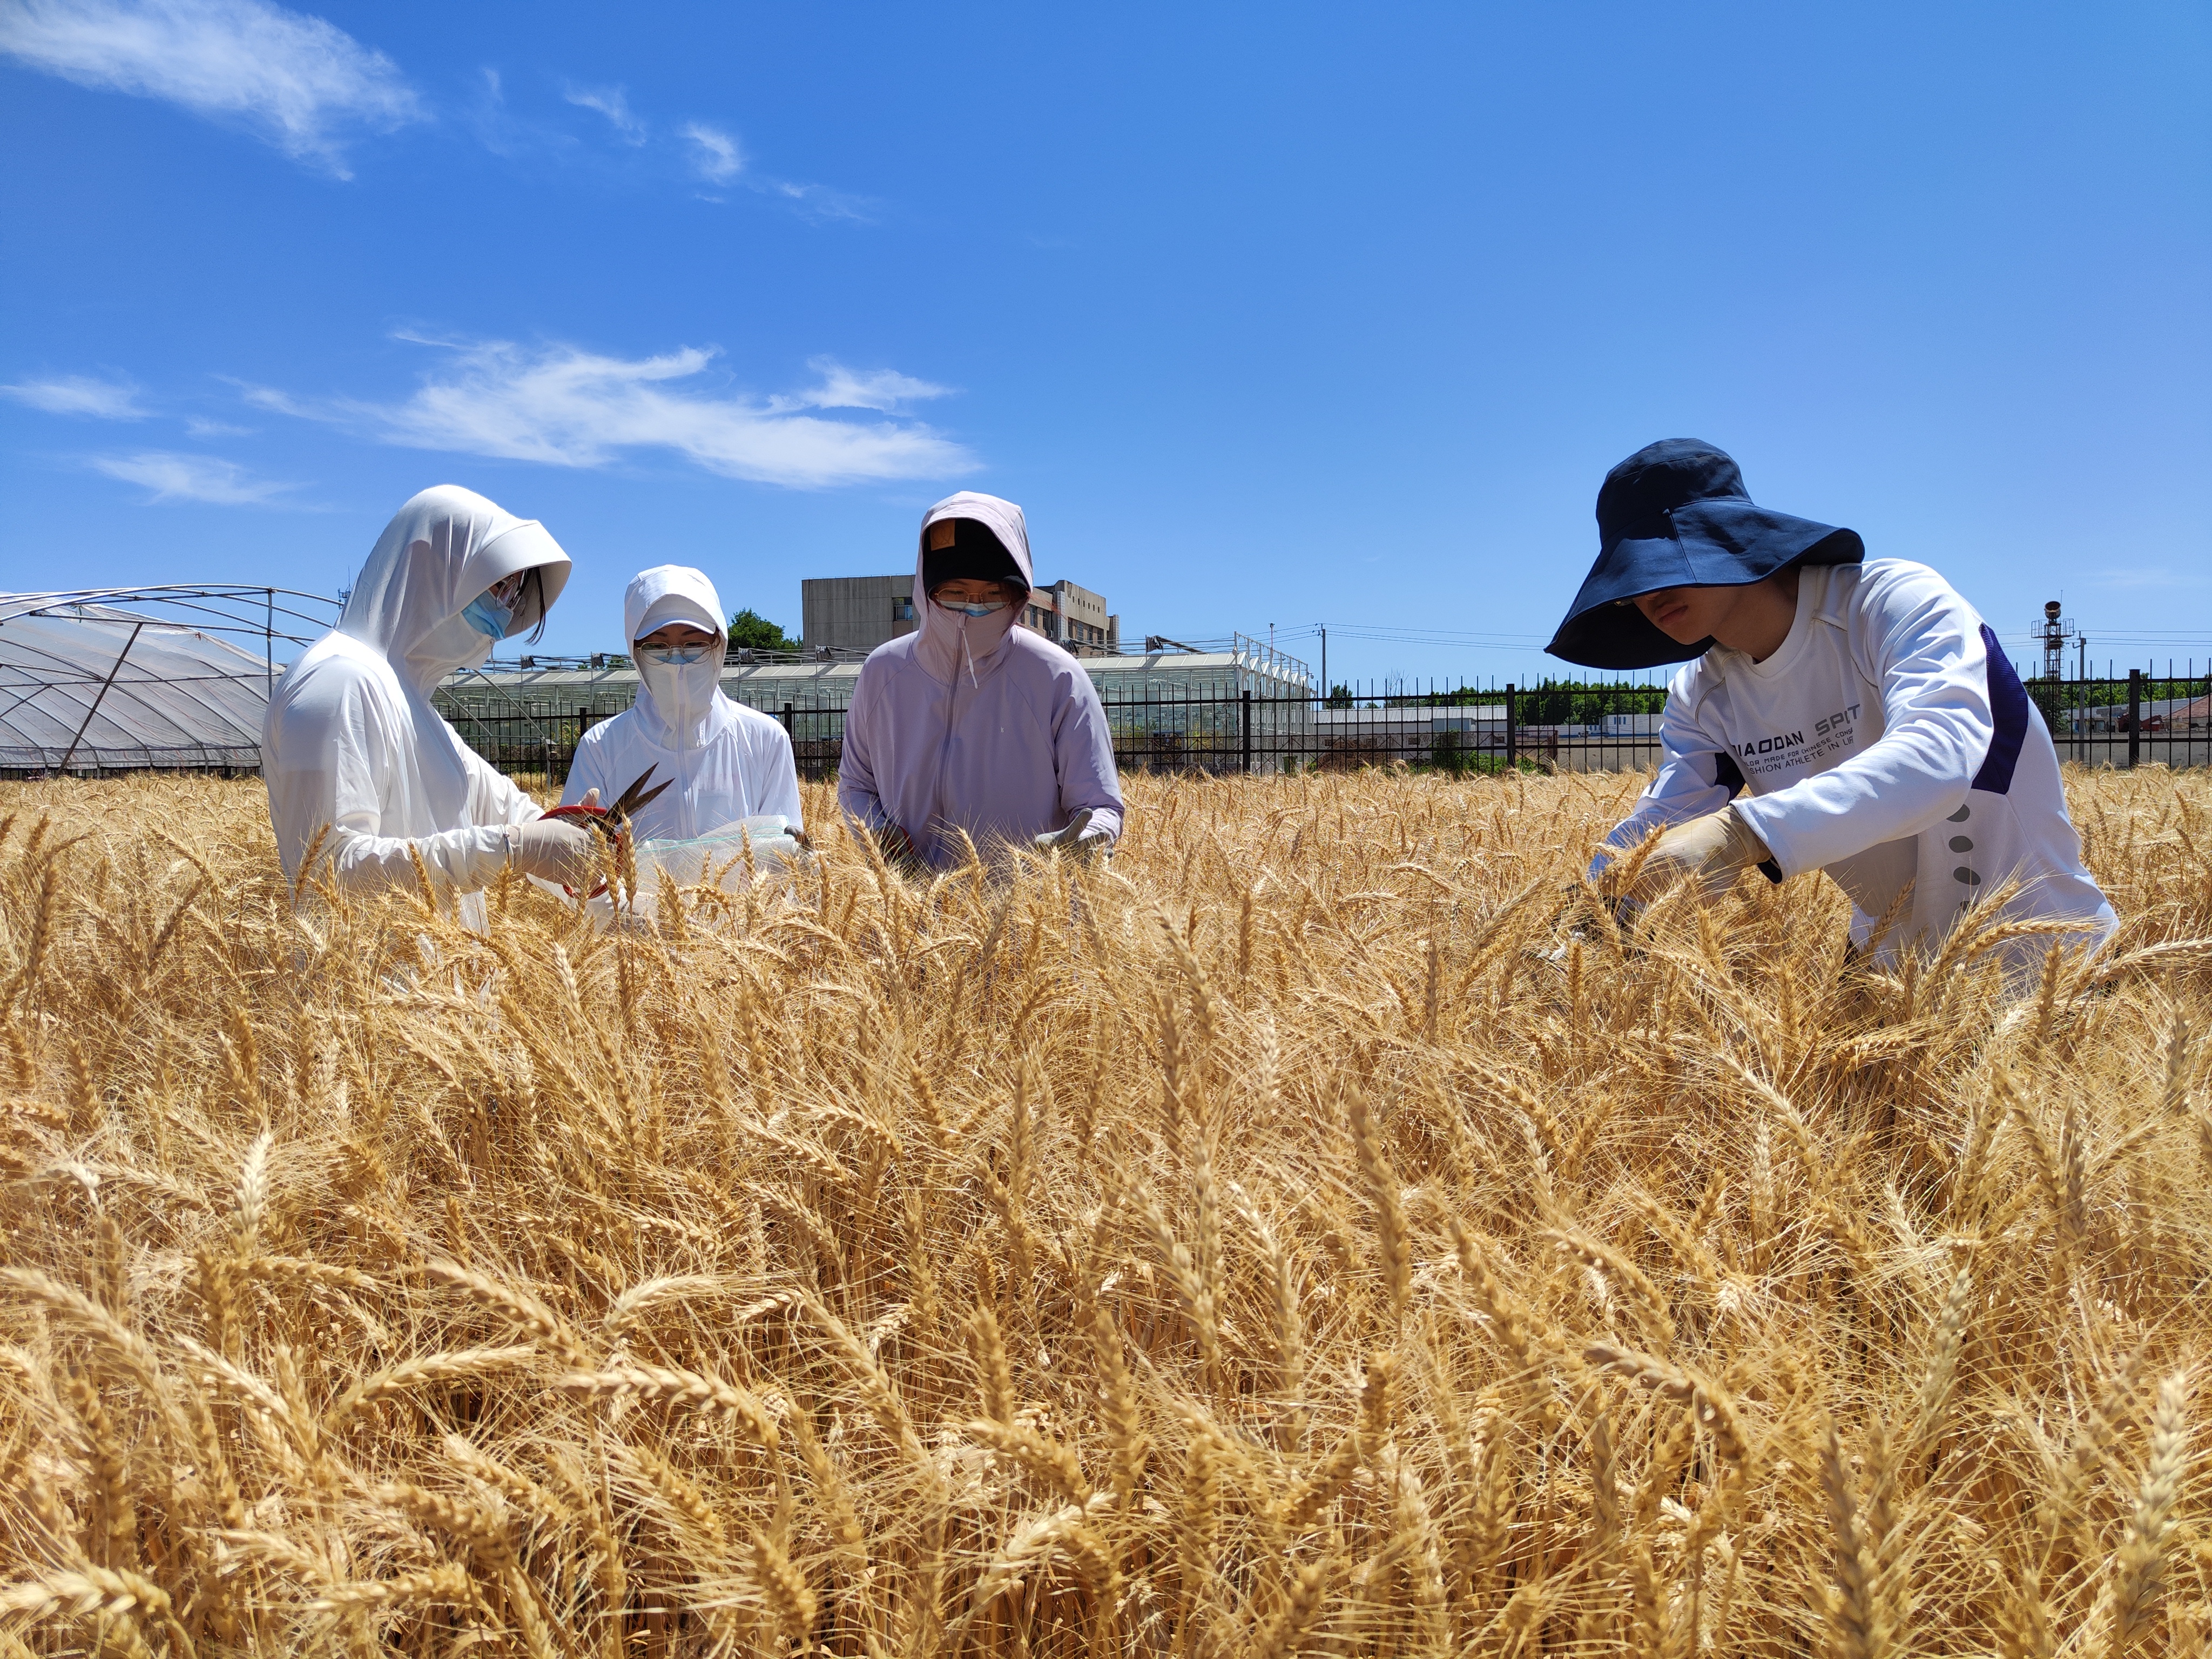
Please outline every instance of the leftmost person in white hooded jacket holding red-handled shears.
[[469, 896], [507, 867], [575, 880], [595, 858], [588, 830], [544, 818], [491, 770], [431, 692], [509, 635], [529, 633], [568, 582], [568, 555], [544, 524], [471, 489], [436, 484], [376, 540], [338, 626], [285, 668], [261, 721], [261, 776], [285, 876], [316, 847], [341, 891], [434, 880]]

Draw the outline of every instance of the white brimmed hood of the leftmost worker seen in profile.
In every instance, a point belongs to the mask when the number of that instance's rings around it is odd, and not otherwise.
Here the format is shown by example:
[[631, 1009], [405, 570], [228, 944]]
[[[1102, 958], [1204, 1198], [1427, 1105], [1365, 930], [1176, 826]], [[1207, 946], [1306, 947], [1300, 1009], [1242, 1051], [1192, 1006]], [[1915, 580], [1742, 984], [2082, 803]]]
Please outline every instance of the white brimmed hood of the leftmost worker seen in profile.
[[[338, 633], [392, 664], [420, 697], [456, 668], [491, 655], [491, 639], [460, 615], [476, 595], [515, 571], [542, 571], [544, 606], [568, 586], [568, 555], [535, 518], [515, 518], [460, 484], [434, 484], [411, 498], [354, 577]], [[524, 604], [509, 637], [538, 626]]]

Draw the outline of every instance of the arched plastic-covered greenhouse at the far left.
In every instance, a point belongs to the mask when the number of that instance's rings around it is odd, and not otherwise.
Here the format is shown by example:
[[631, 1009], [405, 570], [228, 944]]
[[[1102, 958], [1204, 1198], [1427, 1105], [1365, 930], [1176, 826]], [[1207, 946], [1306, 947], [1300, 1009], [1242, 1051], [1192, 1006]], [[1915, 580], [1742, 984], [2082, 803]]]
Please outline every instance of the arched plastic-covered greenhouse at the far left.
[[279, 650], [330, 626], [285, 588], [0, 595], [0, 774], [261, 765]]

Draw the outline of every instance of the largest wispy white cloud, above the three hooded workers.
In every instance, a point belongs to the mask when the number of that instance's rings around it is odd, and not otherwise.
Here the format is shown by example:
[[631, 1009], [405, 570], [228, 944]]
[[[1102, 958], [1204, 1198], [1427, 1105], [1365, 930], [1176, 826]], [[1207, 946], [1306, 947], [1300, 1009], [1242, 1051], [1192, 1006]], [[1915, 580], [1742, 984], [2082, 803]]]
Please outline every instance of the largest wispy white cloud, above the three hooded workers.
[[617, 358], [573, 345], [442, 345], [451, 361], [425, 376], [405, 403], [305, 400], [274, 387], [246, 387], [246, 398], [276, 414], [358, 427], [392, 445], [551, 467], [604, 467], [622, 451], [666, 449], [728, 478], [818, 489], [942, 478], [973, 465], [962, 445], [918, 422], [799, 414], [832, 407], [885, 411], [894, 403], [940, 394], [940, 387], [889, 369], [852, 374], [816, 363], [821, 387], [745, 398], [681, 385], [714, 358], [699, 347]]

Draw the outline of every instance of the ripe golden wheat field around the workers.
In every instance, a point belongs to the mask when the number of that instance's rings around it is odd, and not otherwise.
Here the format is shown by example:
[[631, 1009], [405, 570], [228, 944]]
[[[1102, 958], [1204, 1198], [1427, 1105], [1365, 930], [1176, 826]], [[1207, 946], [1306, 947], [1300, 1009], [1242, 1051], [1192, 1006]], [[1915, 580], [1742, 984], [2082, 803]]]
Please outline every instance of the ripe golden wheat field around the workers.
[[487, 936], [0, 785], [0, 1655], [2201, 1652], [2212, 774], [2013, 1000], [1637, 783]]

